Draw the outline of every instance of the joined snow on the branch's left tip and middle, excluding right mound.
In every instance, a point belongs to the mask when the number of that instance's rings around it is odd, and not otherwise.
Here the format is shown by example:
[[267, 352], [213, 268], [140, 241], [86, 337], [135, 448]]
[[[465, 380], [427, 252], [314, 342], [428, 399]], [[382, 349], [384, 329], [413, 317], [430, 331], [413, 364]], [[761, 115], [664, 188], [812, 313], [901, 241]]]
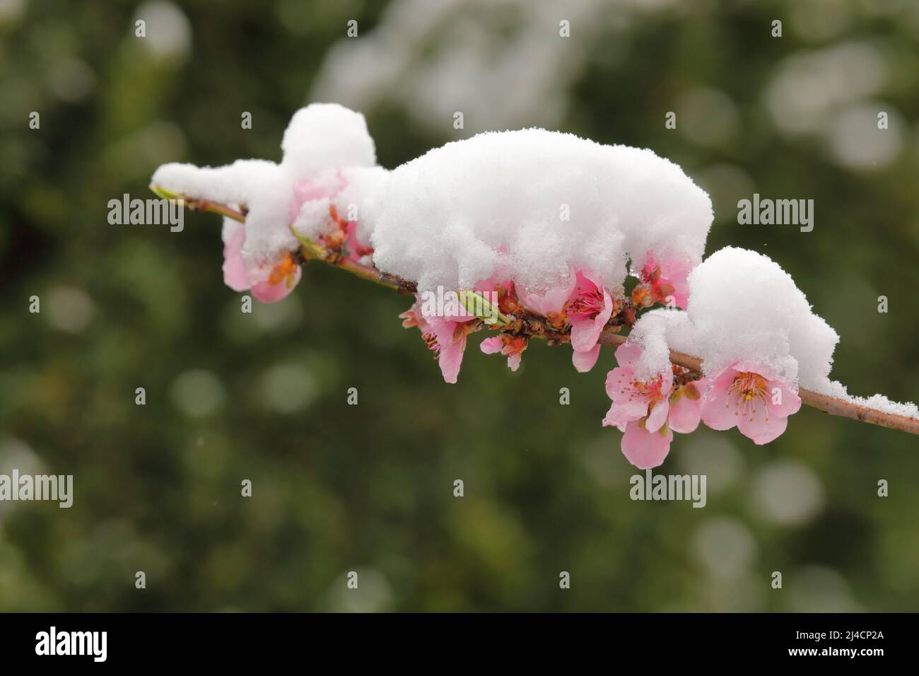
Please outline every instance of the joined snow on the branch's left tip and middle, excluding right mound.
[[[297, 111], [280, 163], [161, 166], [153, 183], [233, 207], [245, 205], [247, 266], [297, 247], [289, 226], [315, 238], [339, 215], [376, 248], [383, 271], [419, 290], [472, 288], [498, 274], [524, 292], [567, 281], [571, 269], [611, 290], [640, 265], [680, 254], [701, 260], [709, 196], [650, 150], [530, 129], [448, 143], [392, 172], [376, 166], [362, 115], [335, 104]], [[312, 192], [298, 209], [295, 187]]]

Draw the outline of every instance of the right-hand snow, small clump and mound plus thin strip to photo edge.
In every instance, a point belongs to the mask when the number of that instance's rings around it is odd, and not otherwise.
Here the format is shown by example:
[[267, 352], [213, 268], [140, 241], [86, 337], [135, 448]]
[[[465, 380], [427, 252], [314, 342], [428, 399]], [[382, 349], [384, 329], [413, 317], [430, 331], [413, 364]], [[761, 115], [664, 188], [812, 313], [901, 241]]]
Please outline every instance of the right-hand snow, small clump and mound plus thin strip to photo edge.
[[735, 361], [766, 366], [817, 394], [919, 418], [915, 404], [850, 395], [829, 379], [839, 336], [813, 314], [789, 274], [754, 251], [728, 246], [709, 256], [689, 274], [686, 312], [662, 308], [641, 315], [629, 342], [642, 348], [635, 366], [642, 380], [670, 368], [669, 350], [675, 349], [701, 358], [709, 376]]

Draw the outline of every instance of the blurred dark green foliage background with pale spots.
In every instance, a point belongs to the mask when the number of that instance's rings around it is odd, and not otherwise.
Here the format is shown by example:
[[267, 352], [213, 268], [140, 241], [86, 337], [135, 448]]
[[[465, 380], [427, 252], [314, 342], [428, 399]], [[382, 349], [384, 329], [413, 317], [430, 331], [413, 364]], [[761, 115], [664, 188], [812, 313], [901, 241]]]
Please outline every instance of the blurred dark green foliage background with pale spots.
[[[0, 503], [0, 610], [919, 610], [915, 437], [808, 407], [767, 447], [676, 435], [658, 471], [707, 507], [632, 502], [611, 351], [473, 345], [444, 384], [404, 297], [310, 265], [243, 315], [219, 217], [107, 221], [161, 163], [278, 160], [310, 101], [388, 167], [532, 125], [647, 146], [709, 190], [709, 252], [789, 270], [835, 378], [915, 400], [917, 48], [909, 1], [0, 0], [0, 473], [74, 475], [70, 510]], [[813, 199], [813, 232], [737, 224], [754, 191]]]

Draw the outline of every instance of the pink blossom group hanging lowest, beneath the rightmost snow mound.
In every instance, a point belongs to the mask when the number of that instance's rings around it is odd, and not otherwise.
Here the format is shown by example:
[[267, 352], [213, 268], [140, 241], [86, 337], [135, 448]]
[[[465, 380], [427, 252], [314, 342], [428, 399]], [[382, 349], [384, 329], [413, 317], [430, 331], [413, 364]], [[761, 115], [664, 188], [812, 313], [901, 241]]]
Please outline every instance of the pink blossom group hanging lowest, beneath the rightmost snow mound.
[[605, 426], [623, 431], [622, 453], [640, 469], [656, 467], [670, 452], [674, 432], [687, 434], [699, 420], [712, 430], [736, 426], [756, 444], [775, 440], [801, 406], [800, 396], [765, 366], [734, 363], [713, 378], [687, 379], [687, 369], [640, 380], [635, 366], [641, 348], [616, 349], [618, 367], [607, 373], [613, 403]]

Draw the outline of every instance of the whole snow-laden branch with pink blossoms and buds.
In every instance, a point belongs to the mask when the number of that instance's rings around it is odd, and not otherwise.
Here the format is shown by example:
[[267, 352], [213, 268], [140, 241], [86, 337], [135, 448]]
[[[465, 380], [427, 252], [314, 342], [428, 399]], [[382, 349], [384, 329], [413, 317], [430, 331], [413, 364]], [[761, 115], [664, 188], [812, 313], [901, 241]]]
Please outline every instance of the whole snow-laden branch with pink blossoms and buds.
[[279, 164], [153, 175], [161, 197], [223, 216], [237, 292], [279, 301], [319, 260], [412, 295], [403, 326], [448, 383], [480, 331], [482, 352], [512, 370], [533, 338], [571, 345], [579, 372], [614, 347], [603, 424], [640, 468], [700, 423], [768, 443], [801, 404], [919, 434], [915, 405], [830, 380], [839, 336], [775, 261], [730, 246], [703, 260], [709, 196], [649, 150], [523, 130], [388, 171], [363, 116], [334, 104], [298, 111], [281, 147]]

